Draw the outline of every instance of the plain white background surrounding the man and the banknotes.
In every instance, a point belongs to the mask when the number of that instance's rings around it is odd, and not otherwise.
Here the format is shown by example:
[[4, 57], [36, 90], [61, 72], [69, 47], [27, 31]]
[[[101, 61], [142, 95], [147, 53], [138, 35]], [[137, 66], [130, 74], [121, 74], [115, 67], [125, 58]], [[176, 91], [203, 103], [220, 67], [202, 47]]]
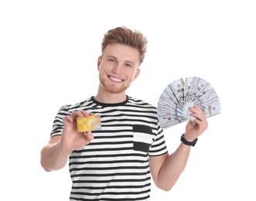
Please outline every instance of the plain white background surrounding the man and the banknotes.
[[[2, 1], [1, 196], [68, 200], [67, 167], [44, 172], [40, 150], [63, 104], [97, 92], [97, 57], [108, 29], [144, 32], [148, 53], [128, 95], [157, 104], [179, 77], [202, 77], [221, 114], [192, 148], [169, 192], [152, 183], [151, 200], [256, 200], [254, 1]], [[186, 123], [166, 129], [169, 152]]]

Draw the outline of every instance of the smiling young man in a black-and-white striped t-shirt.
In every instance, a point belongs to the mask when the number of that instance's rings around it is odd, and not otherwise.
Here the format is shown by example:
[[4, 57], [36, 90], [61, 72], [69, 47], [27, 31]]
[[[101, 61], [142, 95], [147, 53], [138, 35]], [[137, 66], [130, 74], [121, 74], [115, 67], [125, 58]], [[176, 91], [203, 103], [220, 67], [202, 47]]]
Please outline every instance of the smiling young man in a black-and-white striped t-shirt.
[[[70, 200], [149, 200], [151, 177], [169, 191], [185, 169], [189, 143], [169, 155], [156, 107], [125, 94], [138, 77], [147, 43], [141, 32], [109, 30], [97, 60], [97, 94], [56, 114], [41, 165], [49, 172], [69, 160]], [[192, 142], [207, 129], [207, 119], [199, 107], [189, 110], [196, 120], [186, 124], [183, 138]], [[101, 130], [78, 132], [77, 117], [95, 114], [101, 115]]]

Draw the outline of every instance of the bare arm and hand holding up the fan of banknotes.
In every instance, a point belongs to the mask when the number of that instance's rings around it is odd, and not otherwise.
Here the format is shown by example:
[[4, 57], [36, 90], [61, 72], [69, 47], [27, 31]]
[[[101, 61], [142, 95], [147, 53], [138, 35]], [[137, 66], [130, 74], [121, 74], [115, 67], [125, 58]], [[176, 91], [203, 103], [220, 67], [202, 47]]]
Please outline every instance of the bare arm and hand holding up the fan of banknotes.
[[[192, 142], [208, 128], [208, 123], [200, 107], [190, 107], [189, 110], [192, 111], [190, 115], [196, 119], [186, 124], [186, 131], [183, 137], [186, 141]], [[186, 167], [190, 149], [190, 145], [185, 145], [181, 142], [172, 155], [166, 153], [165, 155], [149, 157], [150, 171], [155, 186], [166, 191], [172, 189]]]

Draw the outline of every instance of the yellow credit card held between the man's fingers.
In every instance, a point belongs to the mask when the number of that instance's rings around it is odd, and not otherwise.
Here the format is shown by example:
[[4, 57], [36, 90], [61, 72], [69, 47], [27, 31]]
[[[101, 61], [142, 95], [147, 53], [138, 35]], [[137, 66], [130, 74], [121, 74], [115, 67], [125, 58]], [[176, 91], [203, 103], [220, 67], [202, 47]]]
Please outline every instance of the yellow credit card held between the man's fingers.
[[95, 114], [88, 117], [77, 117], [77, 131], [95, 131], [101, 130], [101, 115]]

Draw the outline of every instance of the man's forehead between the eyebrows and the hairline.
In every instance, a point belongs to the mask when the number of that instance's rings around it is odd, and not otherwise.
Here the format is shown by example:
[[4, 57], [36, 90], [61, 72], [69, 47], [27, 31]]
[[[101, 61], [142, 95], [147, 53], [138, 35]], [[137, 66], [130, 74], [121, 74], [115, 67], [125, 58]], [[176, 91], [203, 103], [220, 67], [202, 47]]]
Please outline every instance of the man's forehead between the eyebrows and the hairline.
[[105, 47], [103, 56], [114, 56], [118, 60], [128, 60], [139, 63], [139, 52], [131, 46], [113, 43]]

